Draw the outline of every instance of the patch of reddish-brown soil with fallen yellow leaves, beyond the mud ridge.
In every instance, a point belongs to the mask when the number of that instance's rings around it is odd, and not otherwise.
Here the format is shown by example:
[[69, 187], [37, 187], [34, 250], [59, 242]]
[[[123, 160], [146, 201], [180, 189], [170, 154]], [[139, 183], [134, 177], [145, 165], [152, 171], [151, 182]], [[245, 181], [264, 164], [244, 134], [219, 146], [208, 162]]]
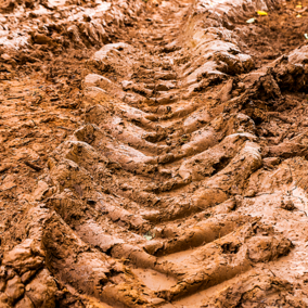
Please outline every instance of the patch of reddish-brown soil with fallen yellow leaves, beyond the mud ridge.
[[303, 2], [301, 9], [296, 9], [300, 1], [287, 1], [279, 5], [270, 16], [257, 16], [256, 22], [247, 26], [246, 15], [236, 31], [242, 41], [243, 50], [252, 54], [257, 67], [288, 54], [294, 49], [306, 44], [305, 34], [308, 33], [308, 12]]

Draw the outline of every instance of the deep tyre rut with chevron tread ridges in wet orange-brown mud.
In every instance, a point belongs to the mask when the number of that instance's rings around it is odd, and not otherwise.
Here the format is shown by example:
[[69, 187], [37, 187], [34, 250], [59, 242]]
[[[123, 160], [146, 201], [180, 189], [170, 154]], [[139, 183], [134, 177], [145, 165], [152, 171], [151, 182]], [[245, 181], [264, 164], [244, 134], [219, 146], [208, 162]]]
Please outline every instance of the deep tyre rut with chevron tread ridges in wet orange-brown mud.
[[283, 157], [261, 133], [286, 87], [307, 90], [308, 49], [256, 69], [235, 4], [221, 4], [230, 21], [210, 1], [149, 4], [87, 61], [85, 124], [50, 155], [28, 240], [3, 257], [29, 275], [10, 305], [39, 307], [41, 284], [62, 307], [308, 307], [305, 270], [287, 272], [307, 252], [283, 228], [306, 236], [307, 162], [292, 157], [307, 147], [285, 141]]

